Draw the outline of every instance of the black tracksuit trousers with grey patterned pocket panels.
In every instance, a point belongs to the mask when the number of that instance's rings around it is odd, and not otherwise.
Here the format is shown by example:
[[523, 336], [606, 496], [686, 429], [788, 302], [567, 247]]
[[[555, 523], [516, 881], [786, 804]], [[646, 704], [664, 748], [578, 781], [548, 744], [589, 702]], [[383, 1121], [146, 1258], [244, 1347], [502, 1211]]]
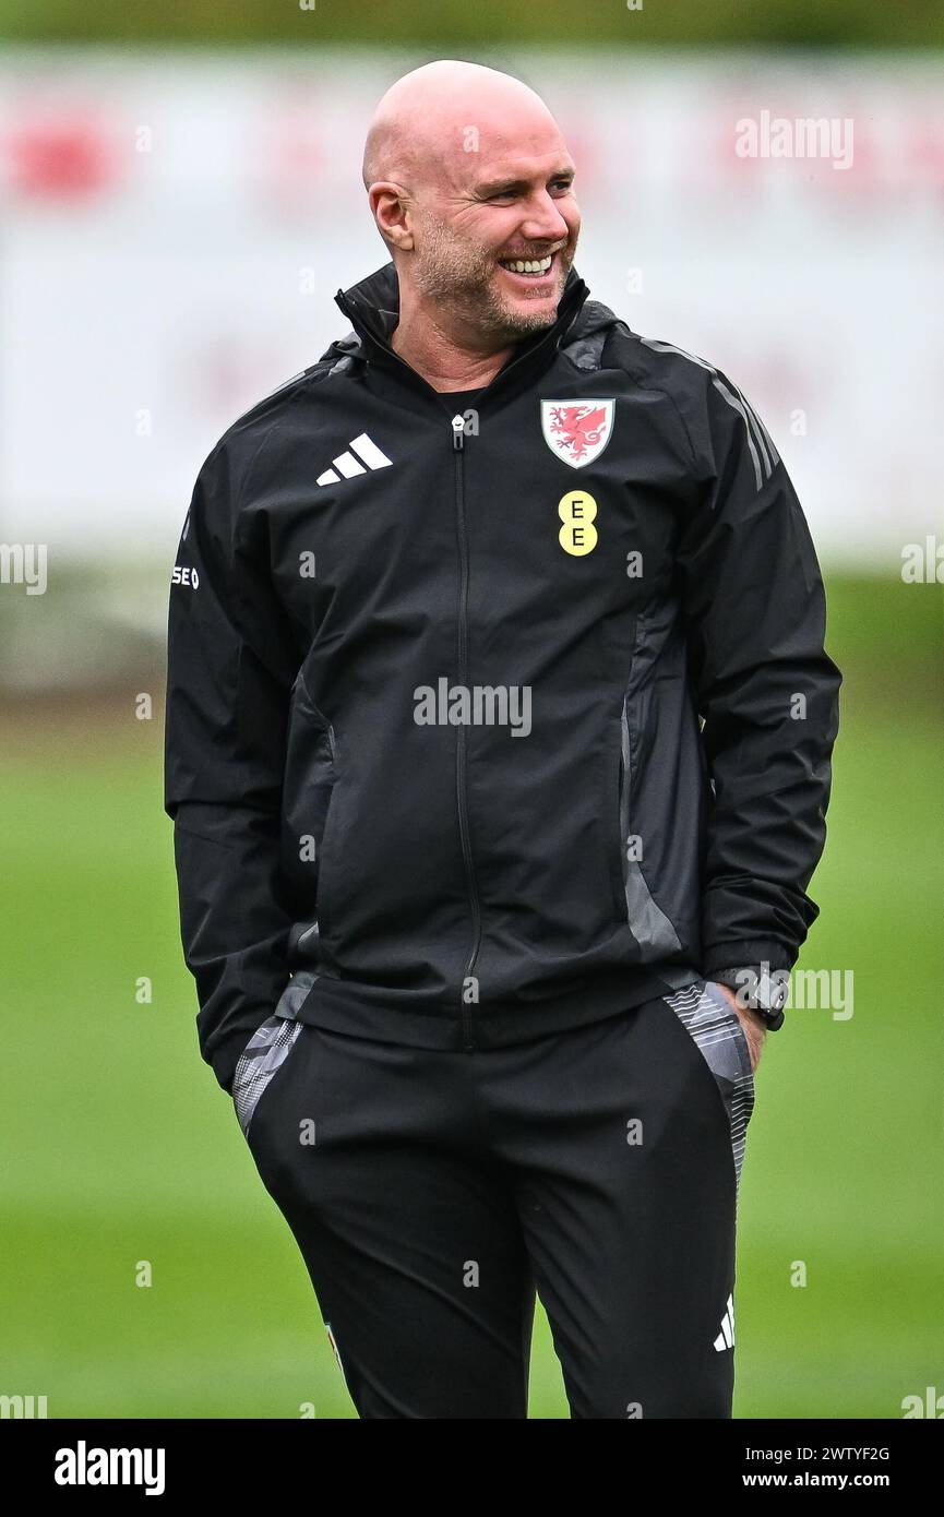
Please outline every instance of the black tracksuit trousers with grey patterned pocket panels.
[[234, 1083], [360, 1417], [525, 1417], [534, 1288], [572, 1417], [730, 1417], [754, 1103], [712, 981], [514, 1047], [276, 1016]]

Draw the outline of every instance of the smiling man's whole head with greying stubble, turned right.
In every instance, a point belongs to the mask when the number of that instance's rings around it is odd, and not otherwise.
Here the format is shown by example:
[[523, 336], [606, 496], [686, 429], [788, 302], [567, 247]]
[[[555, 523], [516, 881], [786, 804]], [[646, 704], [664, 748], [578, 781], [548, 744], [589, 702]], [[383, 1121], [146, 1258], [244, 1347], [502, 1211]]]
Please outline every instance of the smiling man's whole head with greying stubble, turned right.
[[574, 176], [554, 117], [521, 80], [451, 62], [399, 80], [369, 133], [364, 182], [401, 320], [481, 347], [551, 326], [580, 235]]

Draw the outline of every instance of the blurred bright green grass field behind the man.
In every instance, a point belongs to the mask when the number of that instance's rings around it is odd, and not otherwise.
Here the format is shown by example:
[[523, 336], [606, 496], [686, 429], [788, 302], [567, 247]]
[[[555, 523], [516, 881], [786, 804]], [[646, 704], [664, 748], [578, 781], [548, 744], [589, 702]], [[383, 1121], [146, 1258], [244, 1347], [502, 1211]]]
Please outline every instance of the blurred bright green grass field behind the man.
[[[794, 1010], [757, 1073], [736, 1417], [944, 1391], [942, 633], [939, 589], [830, 583], [842, 728], [800, 968], [851, 969], [854, 1015]], [[354, 1417], [197, 1053], [155, 710], [6, 722], [0, 1393], [50, 1417]], [[540, 1311], [531, 1415], [568, 1415]]]

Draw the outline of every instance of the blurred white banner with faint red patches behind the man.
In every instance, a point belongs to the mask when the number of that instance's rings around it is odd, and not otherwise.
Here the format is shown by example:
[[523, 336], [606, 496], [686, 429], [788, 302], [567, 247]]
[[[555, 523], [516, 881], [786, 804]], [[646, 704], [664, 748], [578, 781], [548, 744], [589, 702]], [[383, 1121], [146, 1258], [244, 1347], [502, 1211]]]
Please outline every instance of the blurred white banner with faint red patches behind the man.
[[[422, 61], [0, 53], [3, 540], [173, 558], [219, 435], [349, 329], [335, 291], [385, 262], [363, 138]], [[562, 123], [592, 297], [727, 370], [824, 563], [898, 575], [944, 528], [941, 65], [480, 61]]]

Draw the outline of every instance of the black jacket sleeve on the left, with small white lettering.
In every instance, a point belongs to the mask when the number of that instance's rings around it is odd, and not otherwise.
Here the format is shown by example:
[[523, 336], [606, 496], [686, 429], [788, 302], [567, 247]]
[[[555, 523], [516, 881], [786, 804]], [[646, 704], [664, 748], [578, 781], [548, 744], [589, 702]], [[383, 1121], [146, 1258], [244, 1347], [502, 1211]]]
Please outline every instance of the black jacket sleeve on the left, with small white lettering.
[[255, 457], [235, 464], [223, 438], [200, 469], [167, 634], [164, 809], [200, 1053], [225, 1091], [290, 978], [279, 810], [301, 655], [272, 584], [266, 523], [240, 520]]

